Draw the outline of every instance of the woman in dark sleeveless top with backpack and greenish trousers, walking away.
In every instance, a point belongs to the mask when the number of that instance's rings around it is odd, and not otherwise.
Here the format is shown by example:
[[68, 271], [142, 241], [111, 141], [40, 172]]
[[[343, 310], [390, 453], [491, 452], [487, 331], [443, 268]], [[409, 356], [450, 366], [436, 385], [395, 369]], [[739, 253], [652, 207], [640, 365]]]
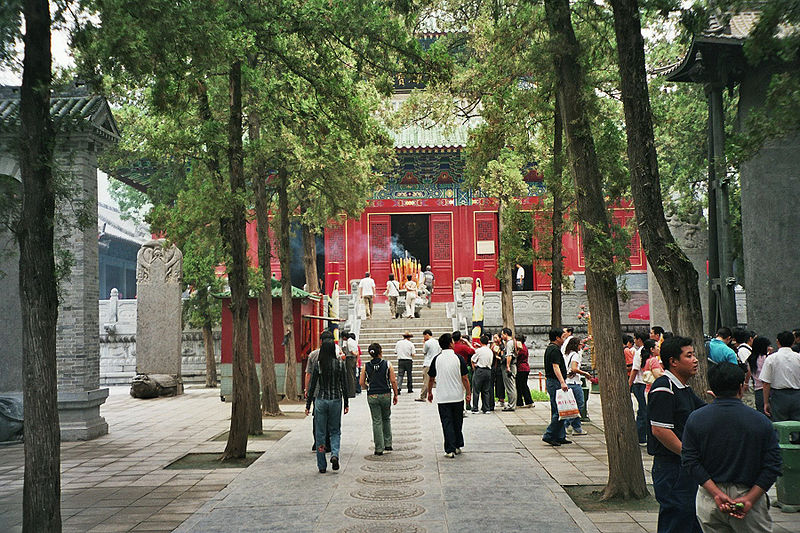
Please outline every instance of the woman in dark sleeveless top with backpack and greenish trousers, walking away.
[[371, 359], [361, 372], [361, 388], [367, 389], [367, 405], [372, 415], [372, 440], [375, 455], [392, 451], [392, 405], [397, 405], [397, 379], [391, 363], [381, 357], [383, 349], [377, 342], [369, 345]]

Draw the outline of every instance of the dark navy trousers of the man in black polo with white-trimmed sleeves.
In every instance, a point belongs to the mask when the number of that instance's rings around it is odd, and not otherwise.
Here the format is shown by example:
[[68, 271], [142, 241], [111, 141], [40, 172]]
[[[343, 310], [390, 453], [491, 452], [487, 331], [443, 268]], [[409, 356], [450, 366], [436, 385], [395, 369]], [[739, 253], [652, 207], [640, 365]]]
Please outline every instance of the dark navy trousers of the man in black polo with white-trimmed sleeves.
[[653, 492], [658, 500], [658, 533], [701, 533], [695, 500], [697, 483], [679, 457], [653, 458]]

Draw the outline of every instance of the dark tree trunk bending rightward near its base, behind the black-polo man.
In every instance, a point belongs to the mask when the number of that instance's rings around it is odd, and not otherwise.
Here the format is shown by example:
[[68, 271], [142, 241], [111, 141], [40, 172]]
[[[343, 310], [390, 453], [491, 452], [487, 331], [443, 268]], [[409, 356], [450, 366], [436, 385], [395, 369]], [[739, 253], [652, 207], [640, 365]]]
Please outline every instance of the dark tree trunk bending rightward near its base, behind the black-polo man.
[[664, 216], [639, 3], [638, 0], [612, 0], [611, 5], [628, 135], [631, 193], [639, 236], [664, 294], [672, 331], [694, 340], [699, 369], [693, 386], [703, 393], [708, 388], [708, 380], [697, 271], [675, 242]]

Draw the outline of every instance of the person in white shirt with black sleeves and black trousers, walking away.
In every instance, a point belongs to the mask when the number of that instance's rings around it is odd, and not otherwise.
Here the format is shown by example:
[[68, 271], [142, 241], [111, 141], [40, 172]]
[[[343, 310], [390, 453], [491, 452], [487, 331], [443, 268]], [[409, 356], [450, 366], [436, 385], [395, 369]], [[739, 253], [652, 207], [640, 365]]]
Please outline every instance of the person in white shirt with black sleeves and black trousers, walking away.
[[436, 404], [444, 433], [445, 457], [461, 455], [464, 446], [464, 391], [470, 395], [467, 363], [453, 351], [453, 337], [449, 333], [439, 337], [442, 353], [431, 361], [428, 369], [428, 401], [433, 401], [436, 386]]

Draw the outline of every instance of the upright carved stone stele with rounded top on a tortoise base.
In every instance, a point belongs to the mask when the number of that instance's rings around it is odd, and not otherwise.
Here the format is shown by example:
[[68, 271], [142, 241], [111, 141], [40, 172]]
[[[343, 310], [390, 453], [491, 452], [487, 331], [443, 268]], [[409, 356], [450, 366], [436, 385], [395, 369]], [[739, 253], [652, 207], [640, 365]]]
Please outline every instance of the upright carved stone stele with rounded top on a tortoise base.
[[157, 239], [142, 245], [136, 262], [136, 373], [169, 374], [180, 393], [183, 254]]

